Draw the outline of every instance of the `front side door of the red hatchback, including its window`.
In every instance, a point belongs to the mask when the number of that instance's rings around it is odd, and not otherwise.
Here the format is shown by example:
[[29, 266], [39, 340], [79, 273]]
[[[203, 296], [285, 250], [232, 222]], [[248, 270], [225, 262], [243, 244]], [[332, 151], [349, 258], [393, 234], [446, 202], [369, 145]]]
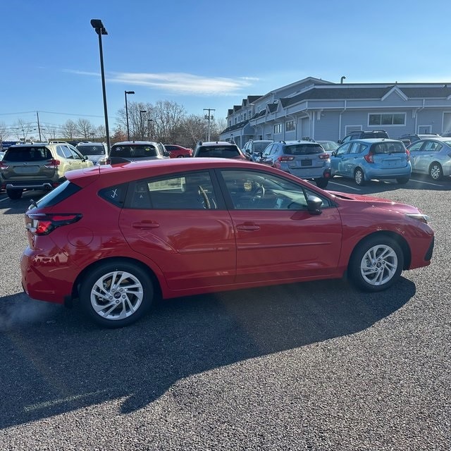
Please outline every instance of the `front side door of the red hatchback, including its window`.
[[342, 226], [326, 197], [307, 211], [302, 184], [257, 170], [221, 170], [237, 242], [236, 283], [325, 276], [338, 265]]

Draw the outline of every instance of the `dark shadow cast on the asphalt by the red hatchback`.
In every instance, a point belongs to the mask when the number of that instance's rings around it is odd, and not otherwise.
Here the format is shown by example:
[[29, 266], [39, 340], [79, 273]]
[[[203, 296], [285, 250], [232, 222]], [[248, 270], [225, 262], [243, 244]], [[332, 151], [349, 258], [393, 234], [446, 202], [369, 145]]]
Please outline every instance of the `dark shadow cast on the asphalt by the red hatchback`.
[[159, 302], [128, 328], [101, 329], [78, 306], [0, 299], [0, 428], [119, 400], [145, 407], [192, 375], [358, 333], [415, 293], [402, 278], [378, 294], [342, 280]]

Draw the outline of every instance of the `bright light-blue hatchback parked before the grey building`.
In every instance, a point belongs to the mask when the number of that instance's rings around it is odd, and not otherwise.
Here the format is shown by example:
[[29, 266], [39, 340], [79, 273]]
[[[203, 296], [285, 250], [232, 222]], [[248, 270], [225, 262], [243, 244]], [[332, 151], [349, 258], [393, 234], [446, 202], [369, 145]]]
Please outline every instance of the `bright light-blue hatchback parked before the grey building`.
[[409, 152], [398, 140], [373, 138], [346, 142], [330, 156], [332, 176], [353, 178], [362, 186], [368, 180], [393, 178], [407, 183], [412, 174]]

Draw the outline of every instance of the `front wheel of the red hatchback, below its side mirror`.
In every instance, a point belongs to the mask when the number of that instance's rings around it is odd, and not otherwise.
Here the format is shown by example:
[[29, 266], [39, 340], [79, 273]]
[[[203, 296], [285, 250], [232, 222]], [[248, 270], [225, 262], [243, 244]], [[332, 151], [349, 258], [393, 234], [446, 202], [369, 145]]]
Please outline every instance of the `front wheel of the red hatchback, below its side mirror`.
[[348, 274], [357, 287], [365, 291], [382, 291], [393, 285], [404, 266], [400, 245], [380, 235], [361, 242], [352, 253]]

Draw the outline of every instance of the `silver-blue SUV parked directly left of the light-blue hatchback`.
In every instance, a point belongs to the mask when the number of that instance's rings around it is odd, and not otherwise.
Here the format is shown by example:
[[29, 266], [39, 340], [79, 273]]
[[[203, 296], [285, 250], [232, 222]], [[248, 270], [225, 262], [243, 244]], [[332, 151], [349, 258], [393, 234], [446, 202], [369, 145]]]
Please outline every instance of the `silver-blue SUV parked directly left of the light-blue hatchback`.
[[330, 155], [318, 142], [273, 142], [264, 149], [258, 162], [282, 169], [304, 180], [314, 180], [320, 188], [325, 188], [329, 182]]

